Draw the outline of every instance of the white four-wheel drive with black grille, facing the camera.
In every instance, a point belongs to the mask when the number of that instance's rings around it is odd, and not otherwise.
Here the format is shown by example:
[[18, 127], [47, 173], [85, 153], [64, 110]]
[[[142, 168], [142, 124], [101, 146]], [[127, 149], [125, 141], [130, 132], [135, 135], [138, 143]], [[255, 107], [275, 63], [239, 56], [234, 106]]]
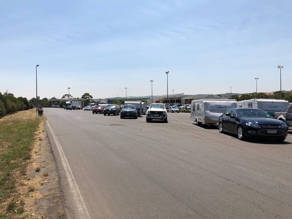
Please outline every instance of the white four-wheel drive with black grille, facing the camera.
[[159, 119], [167, 122], [167, 112], [163, 103], [152, 103], [147, 110], [146, 122], [150, 122], [152, 119]]

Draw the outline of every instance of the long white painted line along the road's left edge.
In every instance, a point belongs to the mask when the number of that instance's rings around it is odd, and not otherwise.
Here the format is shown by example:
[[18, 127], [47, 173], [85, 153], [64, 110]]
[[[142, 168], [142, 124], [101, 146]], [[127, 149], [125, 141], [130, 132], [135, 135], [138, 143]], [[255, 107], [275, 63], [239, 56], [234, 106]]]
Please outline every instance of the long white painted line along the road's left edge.
[[[48, 123], [47, 123], [48, 124]], [[53, 139], [55, 141], [55, 144], [57, 146], [57, 149], [58, 149], [58, 152], [60, 154], [60, 158], [61, 158], [61, 161], [62, 161], [62, 165], [63, 165], [63, 168], [65, 170], [65, 173], [66, 173], [66, 176], [67, 176], [67, 180], [68, 180], [68, 183], [69, 183], [69, 187], [70, 187], [70, 191], [72, 192], [72, 195], [73, 195], [73, 198], [75, 200], [75, 203], [77, 205], [77, 211], [75, 212], [75, 215], [76, 215], [76, 218], [79, 218], [79, 219], [90, 219], [90, 216], [88, 214], [88, 211], [86, 209], [86, 206], [84, 204], [84, 201], [81, 197], [81, 194], [80, 194], [80, 191], [78, 189], [78, 186], [76, 184], [76, 181], [74, 179], [74, 176], [72, 174], [72, 171], [69, 167], [69, 164], [67, 162], [67, 159], [65, 157], [65, 154], [62, 150], [62, 147], [53, 131], [53, 129], [51, 128], [50, 124], [48, 124], [48, 127], [53, 135]]]

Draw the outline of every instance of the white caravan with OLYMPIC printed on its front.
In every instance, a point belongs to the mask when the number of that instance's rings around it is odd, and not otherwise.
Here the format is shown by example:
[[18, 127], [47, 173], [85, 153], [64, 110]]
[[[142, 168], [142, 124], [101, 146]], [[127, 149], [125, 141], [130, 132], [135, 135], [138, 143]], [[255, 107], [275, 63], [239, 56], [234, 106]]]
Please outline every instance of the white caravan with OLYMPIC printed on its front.
[[251, 99], [238, 101], [237, 106], [263, 109], [265, 112], [272, 115], [275, 112], [282, 112], [283, 109], [289, 106], [289, 102], [287, 100], [277, 99]]

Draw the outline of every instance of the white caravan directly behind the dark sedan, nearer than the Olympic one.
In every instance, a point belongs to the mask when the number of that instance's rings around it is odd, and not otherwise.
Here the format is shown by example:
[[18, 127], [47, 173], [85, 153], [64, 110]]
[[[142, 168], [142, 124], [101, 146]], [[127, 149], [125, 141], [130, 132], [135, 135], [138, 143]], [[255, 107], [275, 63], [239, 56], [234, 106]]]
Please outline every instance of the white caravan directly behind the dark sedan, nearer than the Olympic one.
[[202, 123], [206, 125], [217, 125], [219, 116], [227, 109], [236, 108], [237, 101], [233, 99], [200, 99], [191, 102], [191, 120], [197, 126]]

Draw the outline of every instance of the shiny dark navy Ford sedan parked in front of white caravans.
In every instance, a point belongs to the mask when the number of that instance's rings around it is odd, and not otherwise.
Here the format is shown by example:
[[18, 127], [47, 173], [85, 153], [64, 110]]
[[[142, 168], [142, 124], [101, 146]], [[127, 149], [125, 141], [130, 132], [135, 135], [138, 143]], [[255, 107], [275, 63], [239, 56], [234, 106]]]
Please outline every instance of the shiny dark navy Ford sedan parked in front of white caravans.
[[269, 138], [284, 141], [288, 128], [283, 121], [272, 118], [262, 109], [232, 108], [219, 117], [219, 132], [237, 134], [239, 140], [246, 137]]

